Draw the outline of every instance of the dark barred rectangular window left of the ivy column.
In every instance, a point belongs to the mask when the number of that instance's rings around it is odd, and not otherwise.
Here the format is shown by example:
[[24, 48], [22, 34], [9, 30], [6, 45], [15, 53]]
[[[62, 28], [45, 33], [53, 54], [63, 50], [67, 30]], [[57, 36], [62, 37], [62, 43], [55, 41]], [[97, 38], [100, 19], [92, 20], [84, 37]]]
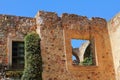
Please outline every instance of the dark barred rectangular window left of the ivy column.
[[12, 69], [24, 68], [24, 42], [12, 42]]

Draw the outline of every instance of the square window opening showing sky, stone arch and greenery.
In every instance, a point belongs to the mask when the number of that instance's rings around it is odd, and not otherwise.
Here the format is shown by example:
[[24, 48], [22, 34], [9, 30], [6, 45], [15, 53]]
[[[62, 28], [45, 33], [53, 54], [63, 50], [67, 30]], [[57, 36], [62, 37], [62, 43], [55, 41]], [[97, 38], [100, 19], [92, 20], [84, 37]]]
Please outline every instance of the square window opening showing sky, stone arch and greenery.
[[74, 65], [94, 65], [93, 46], [90, 40], [72, 39], [72, 61]]

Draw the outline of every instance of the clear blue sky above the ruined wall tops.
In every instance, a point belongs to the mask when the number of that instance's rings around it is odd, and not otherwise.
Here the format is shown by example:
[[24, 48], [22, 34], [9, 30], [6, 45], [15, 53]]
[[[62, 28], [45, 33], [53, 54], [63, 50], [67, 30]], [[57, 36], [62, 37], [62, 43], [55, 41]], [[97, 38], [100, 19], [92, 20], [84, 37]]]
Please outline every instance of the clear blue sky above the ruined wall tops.
[[120, 12], [120, 0], [0, 0], [0, 14], [34, 17], [39, 10], [110, 20]]

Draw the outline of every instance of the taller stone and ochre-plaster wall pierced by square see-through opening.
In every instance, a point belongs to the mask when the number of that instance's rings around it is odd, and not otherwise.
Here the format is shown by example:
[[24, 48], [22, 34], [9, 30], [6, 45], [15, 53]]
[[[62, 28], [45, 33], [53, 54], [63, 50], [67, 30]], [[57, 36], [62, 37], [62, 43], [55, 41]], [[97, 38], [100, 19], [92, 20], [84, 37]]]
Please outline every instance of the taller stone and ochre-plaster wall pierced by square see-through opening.
[[[43, 80], [115, 80], [107, 22], [92, 18], [38, 12], [37, 32], [41, 37]], [[94, 41], [94, 66], [72, 65], [72, 38]]]

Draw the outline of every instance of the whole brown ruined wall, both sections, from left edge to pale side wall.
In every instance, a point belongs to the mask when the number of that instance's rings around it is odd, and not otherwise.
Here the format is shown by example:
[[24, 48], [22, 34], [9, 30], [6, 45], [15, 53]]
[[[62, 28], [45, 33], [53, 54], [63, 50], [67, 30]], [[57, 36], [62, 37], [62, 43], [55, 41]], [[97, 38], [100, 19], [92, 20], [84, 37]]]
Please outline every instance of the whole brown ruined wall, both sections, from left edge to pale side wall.
[[[37, 29], [36, 29], [37, 28]], [[11, 65], [11, 41], [33, 30], [41, 37], [43, 80], [115, 80], [107, 22], [64, 13], [39, 11], [35, 18], [0, 15], [0, 59]], [[90, 40], [94, 66], [72, 65], [71, 39]]]

